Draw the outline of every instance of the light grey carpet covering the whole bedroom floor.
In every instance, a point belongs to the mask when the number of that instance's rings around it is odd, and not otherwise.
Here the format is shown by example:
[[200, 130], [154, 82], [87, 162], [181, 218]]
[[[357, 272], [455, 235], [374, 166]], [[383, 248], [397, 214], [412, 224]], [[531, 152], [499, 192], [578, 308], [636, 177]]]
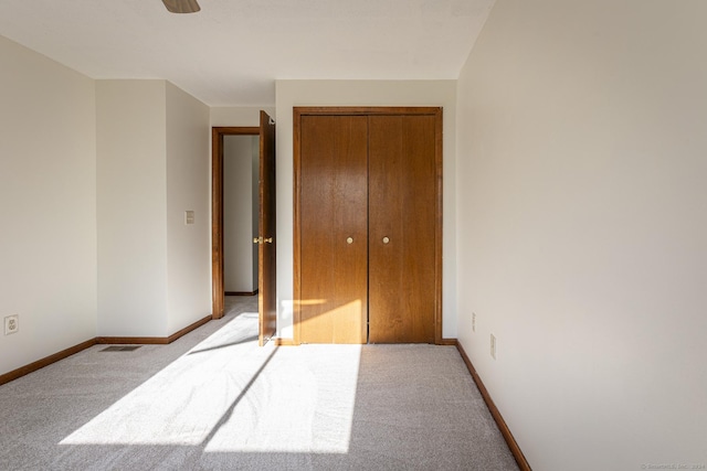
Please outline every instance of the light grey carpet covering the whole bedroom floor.
[[255, 298], [171, 345], [0, 386], [2, 470], [516, 470], [456, 349], [257, 346]]

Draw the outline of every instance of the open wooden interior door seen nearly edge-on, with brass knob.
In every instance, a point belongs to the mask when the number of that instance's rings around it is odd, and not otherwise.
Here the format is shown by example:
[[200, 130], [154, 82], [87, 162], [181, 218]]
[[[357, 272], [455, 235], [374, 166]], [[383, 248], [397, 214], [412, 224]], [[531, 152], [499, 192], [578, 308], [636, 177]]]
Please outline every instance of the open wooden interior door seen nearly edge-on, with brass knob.
[[275, 335], [277, 323], [275, 240], [275, 121], [261, 111], [260, 222], [257, 249], [258, 344]]

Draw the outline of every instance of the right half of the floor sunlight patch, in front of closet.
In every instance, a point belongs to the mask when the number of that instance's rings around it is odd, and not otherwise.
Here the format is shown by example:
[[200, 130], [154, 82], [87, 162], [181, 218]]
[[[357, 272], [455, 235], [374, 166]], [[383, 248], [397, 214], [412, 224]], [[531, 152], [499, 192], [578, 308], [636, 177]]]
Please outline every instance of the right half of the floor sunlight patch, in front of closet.
[[205, 451], [347, 453], [360, 352], [360, 345], [281, 349]]

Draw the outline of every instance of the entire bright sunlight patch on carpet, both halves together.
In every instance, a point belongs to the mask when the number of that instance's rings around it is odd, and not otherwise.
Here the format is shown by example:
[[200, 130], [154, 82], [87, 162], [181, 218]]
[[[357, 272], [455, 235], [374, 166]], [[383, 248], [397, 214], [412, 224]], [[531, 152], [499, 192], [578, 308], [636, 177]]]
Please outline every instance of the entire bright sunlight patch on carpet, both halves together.
[[256, 334], [256, 314], [235, 318], [60, 443], [348, 452], [361, 346]]

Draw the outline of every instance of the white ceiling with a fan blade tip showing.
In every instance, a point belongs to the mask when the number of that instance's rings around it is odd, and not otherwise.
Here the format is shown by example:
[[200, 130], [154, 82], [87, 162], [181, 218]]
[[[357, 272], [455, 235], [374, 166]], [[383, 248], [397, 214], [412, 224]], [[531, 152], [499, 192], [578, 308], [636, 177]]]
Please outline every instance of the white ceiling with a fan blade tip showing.
[[93, 78], [166, 78], [209, 106], [275, 81], [457, 78], [494, 0], [2, 0], [0, 35]]

